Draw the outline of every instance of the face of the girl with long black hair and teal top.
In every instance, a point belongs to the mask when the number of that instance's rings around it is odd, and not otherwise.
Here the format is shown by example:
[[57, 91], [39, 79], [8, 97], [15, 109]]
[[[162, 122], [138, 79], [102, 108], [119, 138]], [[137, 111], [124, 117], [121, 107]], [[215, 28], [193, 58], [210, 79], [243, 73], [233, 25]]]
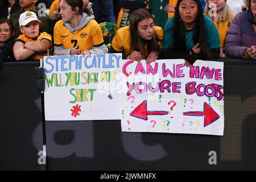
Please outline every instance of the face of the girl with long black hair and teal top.
[[193, 28], [197, 16], [197, 5], [193, 0], [183, 0], [179, 5], [180, 18], [186, 28]]

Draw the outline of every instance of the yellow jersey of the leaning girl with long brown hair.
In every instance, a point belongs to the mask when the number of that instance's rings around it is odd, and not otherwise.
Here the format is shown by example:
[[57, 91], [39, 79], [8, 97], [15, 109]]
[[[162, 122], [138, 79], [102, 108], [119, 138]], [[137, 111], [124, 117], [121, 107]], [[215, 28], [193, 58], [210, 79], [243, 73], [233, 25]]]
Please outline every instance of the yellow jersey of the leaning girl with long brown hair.
[[[155, 26], [156, 35], [160, 40], [163, 40], [163, 29], [159, 26]], [[112, 48], [117, 52], [123, 52], [130, 55], [131, 54], [131, 34], [129, 26], [121, 27], [118, 29], [112, 40]], [[160, 46], [162, 42], [159, 42]]]

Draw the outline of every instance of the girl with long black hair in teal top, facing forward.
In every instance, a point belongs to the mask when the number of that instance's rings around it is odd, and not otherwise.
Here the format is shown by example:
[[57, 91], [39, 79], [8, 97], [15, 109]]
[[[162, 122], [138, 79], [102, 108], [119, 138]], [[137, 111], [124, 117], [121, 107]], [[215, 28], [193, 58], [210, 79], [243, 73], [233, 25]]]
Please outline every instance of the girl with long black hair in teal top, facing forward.
[[197, 59], [217, 59], [220, 36], [210, 18], [203, 15], [200, 0], [179, 0], [174, 17], [164, 27], [162, 59], [184, 59], [187, 66]]

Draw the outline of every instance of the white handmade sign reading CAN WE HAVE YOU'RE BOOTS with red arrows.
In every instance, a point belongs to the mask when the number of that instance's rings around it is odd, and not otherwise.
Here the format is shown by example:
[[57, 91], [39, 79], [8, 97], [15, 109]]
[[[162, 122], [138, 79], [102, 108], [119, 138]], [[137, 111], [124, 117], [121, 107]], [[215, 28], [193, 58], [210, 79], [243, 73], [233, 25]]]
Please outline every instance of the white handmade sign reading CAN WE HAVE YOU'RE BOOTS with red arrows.
[[122, 61], [122, 131], [224, 133], [224, 64]]

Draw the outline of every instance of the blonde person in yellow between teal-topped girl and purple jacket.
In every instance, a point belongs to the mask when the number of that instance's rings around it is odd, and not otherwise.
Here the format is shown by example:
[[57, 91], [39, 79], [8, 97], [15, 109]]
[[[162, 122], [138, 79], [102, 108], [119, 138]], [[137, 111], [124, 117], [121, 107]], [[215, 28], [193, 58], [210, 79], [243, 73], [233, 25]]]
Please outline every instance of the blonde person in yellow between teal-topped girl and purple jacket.
[[226, 35], [235, 14], [229, 9], [226, 0], [207, 0], [205, 15], [213, 20], [220, 35], [220, 57], [226, 57], [224, 52]]

